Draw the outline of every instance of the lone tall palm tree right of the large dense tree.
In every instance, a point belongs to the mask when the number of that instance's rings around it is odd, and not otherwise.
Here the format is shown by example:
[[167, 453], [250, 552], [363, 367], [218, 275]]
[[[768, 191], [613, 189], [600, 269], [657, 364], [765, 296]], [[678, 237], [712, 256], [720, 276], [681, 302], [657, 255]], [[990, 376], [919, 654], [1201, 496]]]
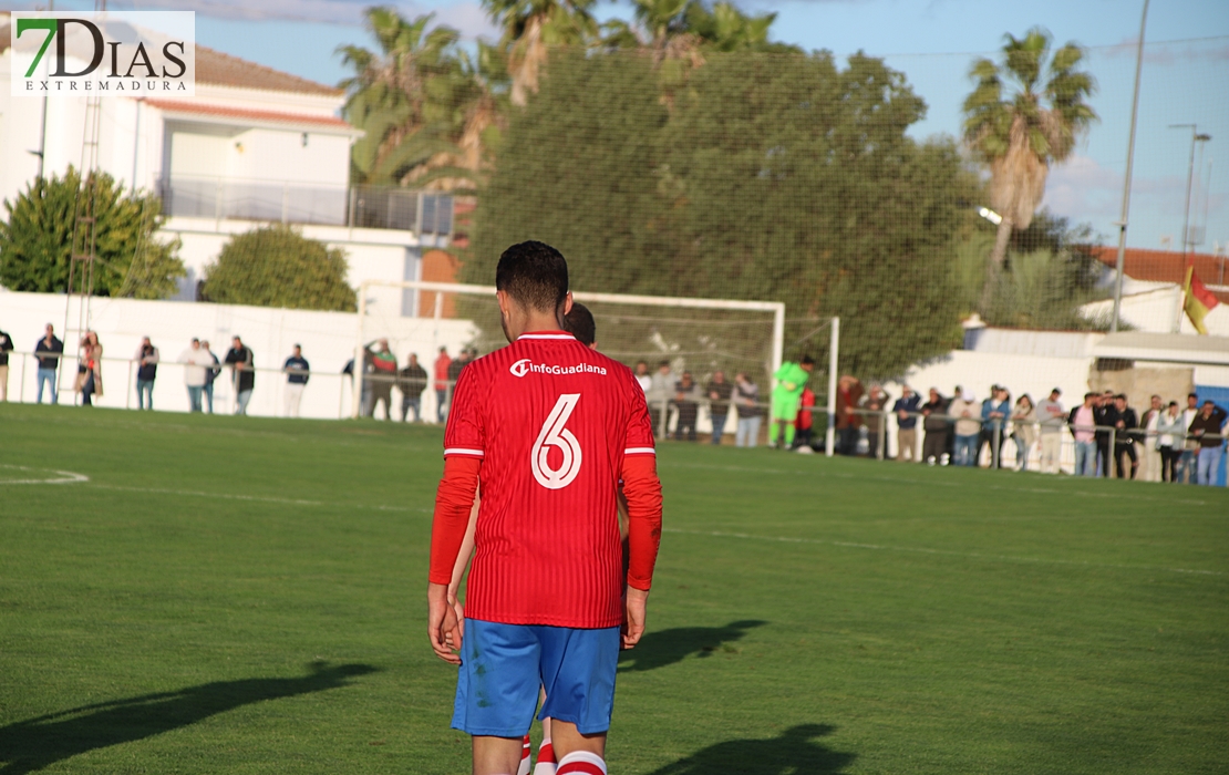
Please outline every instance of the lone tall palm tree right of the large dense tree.
[[1084, 49], [1068, 43], [1050, 55], [1051, 36], [1034, 27], [1007, 36], [1003, 61], [978, 59], [970, 70], [976, 88], [965, 99], [965, 142], [989, 167], [991, 206], [998, 225], [982, 307], [1007, 257], [1013, 230], [1027, 228], [1046, 192], [1050, 166], [1064, 161], [1096, 120], [1085, 102], [1096, 81], [1077, 66]]

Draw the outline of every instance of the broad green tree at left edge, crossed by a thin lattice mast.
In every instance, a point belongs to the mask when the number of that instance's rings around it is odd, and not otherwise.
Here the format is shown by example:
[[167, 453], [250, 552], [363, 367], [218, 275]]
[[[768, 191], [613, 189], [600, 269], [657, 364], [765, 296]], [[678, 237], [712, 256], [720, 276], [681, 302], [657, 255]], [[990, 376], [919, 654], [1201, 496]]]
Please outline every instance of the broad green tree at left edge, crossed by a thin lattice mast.
[[[0, 284], [14, 291], [63, 294], [69, 285], [77, 204], [93, 197], [96, 296], [166, 298], [183, 278], [179, 241], [155, 237], [163, 221], [157, 197], [128, 192], [106, 172], [84, 182], [69, 167], [64, 177], [36, 178], [0, 221]], [[84, 211], [82, 211], [84, 212]], [[85, 235], [79, 235], [79, 244]], [[80, 252], [80, 251], [79, 251]], [[80, 267], [77, 269], [80, 271]], [[77, 289], [81, 287], [76, 281]]]

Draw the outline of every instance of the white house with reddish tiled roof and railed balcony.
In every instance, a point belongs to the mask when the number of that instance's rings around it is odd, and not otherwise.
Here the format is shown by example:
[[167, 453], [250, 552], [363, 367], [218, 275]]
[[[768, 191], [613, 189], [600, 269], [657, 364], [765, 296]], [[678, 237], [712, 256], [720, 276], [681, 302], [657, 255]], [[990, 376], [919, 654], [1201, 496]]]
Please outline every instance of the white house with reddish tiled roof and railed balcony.
[[[86, 99], [10, 97], [9, 17], [0, 14], [0, 199], [81, 166]], [[205, 267], [231, 235], [284, 222], [345, 251], [349, 281], [423, 279], [423, 251], [452, 235], [454, 200], [436, 192], [354, 185], [350, 146], [361, 131], [340, 118], [345, 95], [263, 65], [197, 47], [192, 98], [101, 101], [98, 167], [156, 192], [165, 232], [183, 241], [193, 301]], [[430, 273], [429, 273], [430, 274]], [[415, 316], [417, 294], [377, 290], [386, 314]], [[429, 314], [430, 311], [426, 311]]]

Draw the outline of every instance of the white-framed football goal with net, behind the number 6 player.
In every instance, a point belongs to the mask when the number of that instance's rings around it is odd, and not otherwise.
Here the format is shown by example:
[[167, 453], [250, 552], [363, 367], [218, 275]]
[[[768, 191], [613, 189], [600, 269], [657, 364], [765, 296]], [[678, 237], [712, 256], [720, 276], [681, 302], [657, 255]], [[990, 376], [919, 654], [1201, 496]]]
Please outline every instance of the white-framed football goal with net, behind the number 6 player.
[[[495, 289], [489, 285], [364, 281], [359, 289], [350, 416], [358, 418], [364, 409], [364, 350], [372, 341], [388, 339], [398, 365], [408, 351], [414, 351], [429, 381], [434, 381], [431, 361], [440, 346], [451, 354], [462, 346], [476, 346], [482, 354], [503, 346], [494, 296]], [[718, 370], [725, 371], [729, 380], [745, 371], [762, 386], [761, 397], [766, 399], [772, 375], [782, 364], [783, 302], [587, 291], [574, 291], [573, 298], [594, 313], [599, 350], [628, 366], [645, 361], [655, 368], [658, 362], [670, 361], [676, 375], [689, 371], [697, 382]], [[434, 403], [434, 391], [426, 395]]]

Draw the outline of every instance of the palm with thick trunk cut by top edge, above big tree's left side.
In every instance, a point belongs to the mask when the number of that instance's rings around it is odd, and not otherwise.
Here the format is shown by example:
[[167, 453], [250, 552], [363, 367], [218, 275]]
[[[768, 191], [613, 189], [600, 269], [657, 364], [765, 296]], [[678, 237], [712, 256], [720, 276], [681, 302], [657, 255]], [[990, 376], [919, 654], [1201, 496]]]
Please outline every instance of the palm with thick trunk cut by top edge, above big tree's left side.
[[597, 37], [589, 10], [595, 0], [482, 0], [492, 21], [503, 29], [512, 79], [511, 101], [524, 106], [537, 92], [538, 79], [552, 45], [587, 45]]

